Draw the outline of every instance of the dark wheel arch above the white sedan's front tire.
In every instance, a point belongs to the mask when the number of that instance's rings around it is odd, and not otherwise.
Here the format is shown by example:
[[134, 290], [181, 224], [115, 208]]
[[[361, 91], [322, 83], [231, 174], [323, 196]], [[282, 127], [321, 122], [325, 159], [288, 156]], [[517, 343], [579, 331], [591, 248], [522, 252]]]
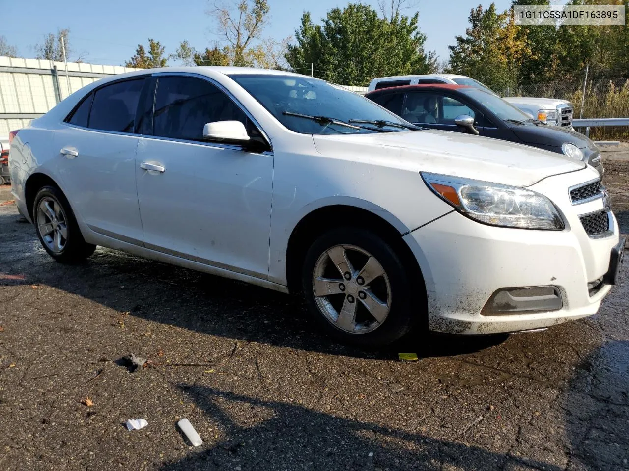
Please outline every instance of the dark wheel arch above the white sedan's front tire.
[[317, 207], [304, 215], [292, 230], [286, 248], [286, 281], [289, 292], [297, 293], [301, 290], [301, 267], [308, 247], [326, 230], [343, 225], [362, 227], [382, 237], [403, 260], [409, 276], [420, 282], [425, 290], [420, 266], [403, 239], [409, 229], [389, 212], [377, 208], [379, 210], [376, 213], [364, 207], [336, 203]]

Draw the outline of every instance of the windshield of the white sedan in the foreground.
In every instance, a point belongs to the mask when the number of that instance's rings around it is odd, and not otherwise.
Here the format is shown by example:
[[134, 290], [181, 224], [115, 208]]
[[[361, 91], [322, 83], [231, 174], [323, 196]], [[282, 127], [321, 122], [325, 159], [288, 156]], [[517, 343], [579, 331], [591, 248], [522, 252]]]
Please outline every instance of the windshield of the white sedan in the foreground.
[[[406, 131], [404, 127], [411, 126], [399, 116], [382, 109], [371, 100], [318, 78], [275, 74], [242, 74], [230, 75], [230, 77], [269, 110], [277, 121], [296, 133], [393, 132]], [[308, 117], [325, 117], [345, 123], [351, 122], [352, 126], [335, 124], [325, 119], [308, 119]], [[365, 121], [377, 121], [379, 124], [387, 121], [391, 125], [376, 126]], [[404, 127], [399, 126], [400, 124]]]

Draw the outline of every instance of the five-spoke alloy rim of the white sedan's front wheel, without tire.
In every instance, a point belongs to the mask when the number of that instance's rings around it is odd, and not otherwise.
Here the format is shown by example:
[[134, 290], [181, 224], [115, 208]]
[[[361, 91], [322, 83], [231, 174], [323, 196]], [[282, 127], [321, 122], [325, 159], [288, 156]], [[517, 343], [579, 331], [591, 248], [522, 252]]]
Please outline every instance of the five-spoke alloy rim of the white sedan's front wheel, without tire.
[[321, 313], [344, 332], [372, 332], [391, 310], [389, 277], [376, 257], [357, 246], [337, 245], [323, 252], [312, 286]]

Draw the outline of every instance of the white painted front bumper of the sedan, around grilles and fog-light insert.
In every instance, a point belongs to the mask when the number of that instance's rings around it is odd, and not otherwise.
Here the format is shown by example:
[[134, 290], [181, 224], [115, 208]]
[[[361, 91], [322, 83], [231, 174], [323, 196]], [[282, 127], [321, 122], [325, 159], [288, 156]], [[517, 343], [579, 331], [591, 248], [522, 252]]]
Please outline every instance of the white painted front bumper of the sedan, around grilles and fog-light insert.
[[[602, 283], [590, 296], [587, 284], [610, 270], [611, 252], [619, 242], [618, 227], [611, 215], [608, 234], [588, 237], [579, 215], [602, 209], [602, 198], [573, 206], [567, 196], [567, 188], [586, 181], [593, 173], [592, 168], [587, 168], [533, 185], [532, 189], [564, 208], [564, 230], [494, 227], [451, 212], [404, 236], [425, 279], [430, 330], [469, 334], [515, 332], [596, 313], [611, 285]], [[562, 307], [532, 313], [481, 314], [497, 291], [535, 286], [556, 287]]]

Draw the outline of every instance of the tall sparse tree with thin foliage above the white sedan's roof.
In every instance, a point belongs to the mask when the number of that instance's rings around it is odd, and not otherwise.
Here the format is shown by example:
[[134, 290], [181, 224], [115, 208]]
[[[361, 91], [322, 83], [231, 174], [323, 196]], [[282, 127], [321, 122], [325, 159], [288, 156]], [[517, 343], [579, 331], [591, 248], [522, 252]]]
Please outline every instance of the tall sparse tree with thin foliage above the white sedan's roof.
[[269, 19], [267, 0], [239, 0], [237, 4], [217, 6], [209, 12], [218, 23], [218, 33], [227, 41], [233, 65], [247, 65], [246, 51], [259, 39]]

